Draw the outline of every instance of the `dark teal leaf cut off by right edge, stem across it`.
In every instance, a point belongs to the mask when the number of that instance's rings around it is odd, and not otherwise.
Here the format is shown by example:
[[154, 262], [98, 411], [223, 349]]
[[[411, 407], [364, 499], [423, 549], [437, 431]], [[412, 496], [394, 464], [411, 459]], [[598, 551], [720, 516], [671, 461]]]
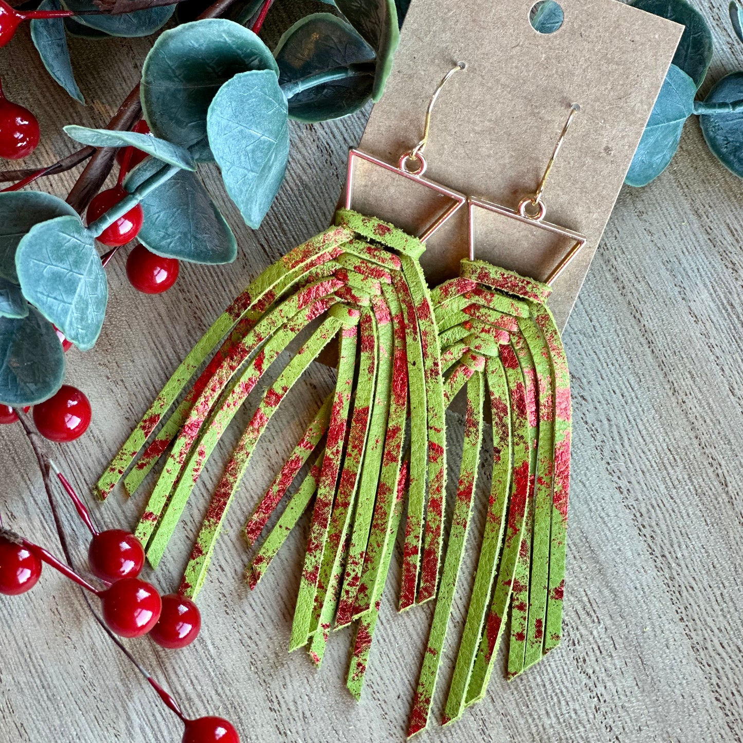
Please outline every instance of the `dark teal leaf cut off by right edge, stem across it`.
[[[743, 72], [723, 77], [710, 91], [704, 104], [743, 100]], [[743, 178], [743, 111], [702, 114], [699, 126], [712, 154], [731, 172]]]

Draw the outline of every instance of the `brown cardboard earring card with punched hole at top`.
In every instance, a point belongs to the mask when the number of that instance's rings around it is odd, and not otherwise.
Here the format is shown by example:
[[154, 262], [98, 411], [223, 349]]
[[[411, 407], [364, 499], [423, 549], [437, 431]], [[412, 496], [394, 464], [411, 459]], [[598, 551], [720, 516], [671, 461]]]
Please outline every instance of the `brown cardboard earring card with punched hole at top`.
[[[560, 0], [555, 33], [531, 27], [534, 0], [413, 0], [386, 93], [360, 149], [387, 163], [421, 138], [429, 97], [456, 62], [467, 70], [436, 103], [426, 178], [516, 208], [548, 163], [571, 103], [580, 103], [548, 180], [546, 219], [587, 243], [554, 282], [559, 328], [583, 284], [681, 38], [681, 25], [614, 0]], [[419, 233], [446, 199], [371, 163], [354, 168], [352, 207]], [[570, 247], [545, 230], [478, 212], [476, 257], [544, 279]], [[458, 276], [467, 256], [467, 210], [427, 243], [430, 286]]]

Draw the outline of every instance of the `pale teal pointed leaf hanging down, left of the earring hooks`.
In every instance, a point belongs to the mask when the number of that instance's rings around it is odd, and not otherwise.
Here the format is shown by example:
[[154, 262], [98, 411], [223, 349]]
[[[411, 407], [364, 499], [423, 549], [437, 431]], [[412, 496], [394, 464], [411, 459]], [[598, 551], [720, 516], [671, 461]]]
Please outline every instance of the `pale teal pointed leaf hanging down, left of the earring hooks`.
[[288, 104], [276, 75], [243, 72], [225, 82], [209, 107], [207, 129], [227, 193], [257, 230], [289, 157]]

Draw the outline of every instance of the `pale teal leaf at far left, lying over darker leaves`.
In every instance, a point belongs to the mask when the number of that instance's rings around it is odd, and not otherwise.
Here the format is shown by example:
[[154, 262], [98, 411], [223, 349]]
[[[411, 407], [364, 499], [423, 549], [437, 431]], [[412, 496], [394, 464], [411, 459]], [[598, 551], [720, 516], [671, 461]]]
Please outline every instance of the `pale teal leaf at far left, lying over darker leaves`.
[[26, 299], [82, 351], [92, 348], [106, 314], [108, 285], [94, 237], [80, 217], [32, 227], [16, 251], [16, 270]]

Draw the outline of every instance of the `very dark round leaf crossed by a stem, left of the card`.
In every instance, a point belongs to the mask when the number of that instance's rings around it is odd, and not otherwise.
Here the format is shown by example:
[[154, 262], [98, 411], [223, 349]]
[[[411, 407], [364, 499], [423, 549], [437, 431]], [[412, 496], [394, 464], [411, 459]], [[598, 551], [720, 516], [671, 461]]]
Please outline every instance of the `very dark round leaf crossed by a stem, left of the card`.
[[369, 44], [345, 21], [330, 13], [314, 13], [297, 21], [273, 52], [279, 82], [312, 80], [328, 71], [348, 71], [349, 77], [313, 85], [289, 98], [289, 117], [314, 123], [353, 114], [371, 98], [373, 74], [352, 74], [350, 65], [372, 62]]

